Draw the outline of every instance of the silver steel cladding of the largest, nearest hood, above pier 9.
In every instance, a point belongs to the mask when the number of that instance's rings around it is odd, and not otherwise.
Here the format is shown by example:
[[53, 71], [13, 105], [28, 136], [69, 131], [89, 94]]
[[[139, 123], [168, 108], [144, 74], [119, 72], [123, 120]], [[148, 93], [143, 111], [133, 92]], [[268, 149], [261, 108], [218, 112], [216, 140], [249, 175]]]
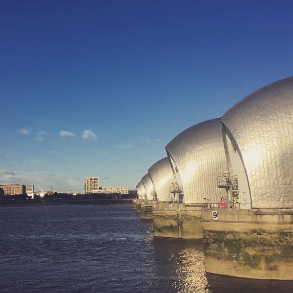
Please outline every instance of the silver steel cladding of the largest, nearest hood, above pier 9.
[[246, 170], [252, 208], [293, 208], [293, 78], [253, 92], [222, 121]]

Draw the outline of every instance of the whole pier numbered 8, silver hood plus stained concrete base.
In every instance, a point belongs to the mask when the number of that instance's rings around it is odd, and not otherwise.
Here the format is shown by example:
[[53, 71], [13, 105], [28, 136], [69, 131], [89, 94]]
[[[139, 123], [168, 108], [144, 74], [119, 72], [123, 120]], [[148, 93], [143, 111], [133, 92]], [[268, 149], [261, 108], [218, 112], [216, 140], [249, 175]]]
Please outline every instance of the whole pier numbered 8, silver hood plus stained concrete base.
[[217, 185], [217, 175], [227, 169], [222, 136], [217, 118], [189, 127], [167, 144], [172, 197], [153, 205], [154, 236], [203, 237], [202, 207], [226, 196]]

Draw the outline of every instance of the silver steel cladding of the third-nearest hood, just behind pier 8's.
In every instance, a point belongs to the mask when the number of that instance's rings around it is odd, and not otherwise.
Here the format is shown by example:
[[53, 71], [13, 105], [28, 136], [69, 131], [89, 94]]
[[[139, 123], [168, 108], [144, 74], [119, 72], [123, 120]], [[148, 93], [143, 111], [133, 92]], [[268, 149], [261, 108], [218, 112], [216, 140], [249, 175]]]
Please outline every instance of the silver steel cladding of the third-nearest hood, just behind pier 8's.
[[148, 169], [159, 201], [167, 201], [174, 175], [168, 157], [163, 158]]

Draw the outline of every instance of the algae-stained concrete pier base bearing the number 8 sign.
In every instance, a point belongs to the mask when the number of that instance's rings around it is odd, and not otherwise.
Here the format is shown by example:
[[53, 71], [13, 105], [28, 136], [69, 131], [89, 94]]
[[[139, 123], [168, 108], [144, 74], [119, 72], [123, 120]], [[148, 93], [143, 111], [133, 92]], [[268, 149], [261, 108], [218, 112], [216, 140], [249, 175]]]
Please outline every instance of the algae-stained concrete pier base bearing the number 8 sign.
[[155, 237], [201, 239], [202, 220], [200, 205], [174, 203], [153, 204]]

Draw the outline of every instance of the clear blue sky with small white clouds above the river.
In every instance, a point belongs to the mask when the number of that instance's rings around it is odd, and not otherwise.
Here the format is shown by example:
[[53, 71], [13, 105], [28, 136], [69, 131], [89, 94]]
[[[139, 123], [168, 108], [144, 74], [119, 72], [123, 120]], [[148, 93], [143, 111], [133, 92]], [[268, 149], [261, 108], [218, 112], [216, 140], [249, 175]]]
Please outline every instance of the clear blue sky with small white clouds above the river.
[[179, 132], [293, 75], [292, 1], [41, 2], [0, 3], [3, 184], [134, 189]]

